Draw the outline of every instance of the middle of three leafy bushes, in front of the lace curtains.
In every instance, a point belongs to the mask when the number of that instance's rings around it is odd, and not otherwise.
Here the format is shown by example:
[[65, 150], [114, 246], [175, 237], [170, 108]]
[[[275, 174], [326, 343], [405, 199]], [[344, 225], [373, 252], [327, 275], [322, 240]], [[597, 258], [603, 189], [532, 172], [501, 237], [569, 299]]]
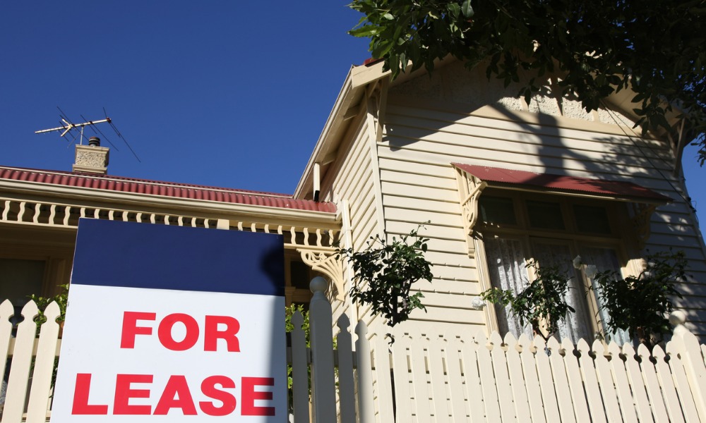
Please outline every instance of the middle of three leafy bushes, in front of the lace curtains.
[[509, 305], [510, 313], [520, 320], [520, 324], [532, 324], [535, 334], [549, 340], [558, 331], [559, 322], [566, 319], [567, 313], [575, 312], [565, 300], [570, 289], [570, 278], [561, 274], [556, 266], [540, 267], [535, 261], [529, 262], [527, 268], [534, 269], [537, 277], [527, 282], [519, 293], [493, 287], [483, 291], [481, 298], [503, 307]]

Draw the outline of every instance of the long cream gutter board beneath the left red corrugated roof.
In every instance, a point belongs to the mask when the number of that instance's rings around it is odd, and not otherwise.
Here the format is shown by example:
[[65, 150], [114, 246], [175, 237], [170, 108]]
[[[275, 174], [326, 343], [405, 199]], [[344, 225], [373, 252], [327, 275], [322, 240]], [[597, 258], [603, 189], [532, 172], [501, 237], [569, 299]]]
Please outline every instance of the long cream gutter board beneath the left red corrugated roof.
[[198, 210], [202, 213], [208, 211], [210, 213], [233, 214], [238, 216], [260, 216], [326, 224], [337, 223], [336, 214], [328, 212], [282, 209], [279, 207], [224, 203], [211, 200], [191, 200], [177, 197], [162, 197], [160, 195], [105, 191], [95, 188], [75, 188], [17, 180], [0, 181], [0, 194], [4, 190], [36, 195], [38, 197], [64, 197], [88, 200], [91, 202], [105, 202], [108, 204], [106, 207], [115, 209], [119, 209], [125, 204], [131, 204], [152, 208], [164, 207], [167, 210]]

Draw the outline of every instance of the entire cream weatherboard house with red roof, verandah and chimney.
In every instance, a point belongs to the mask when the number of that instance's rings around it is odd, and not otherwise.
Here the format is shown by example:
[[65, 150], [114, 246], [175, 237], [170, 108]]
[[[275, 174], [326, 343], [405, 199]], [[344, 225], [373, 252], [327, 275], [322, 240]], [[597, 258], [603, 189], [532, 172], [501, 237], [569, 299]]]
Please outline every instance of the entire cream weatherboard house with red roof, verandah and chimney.
[[[71, 172], [0, 166], [0, 298], [19, 311], [26, 295], [68, 283], [81, 217], [279, 233], [287, 303], [308, 302], [309, 281], [324, 276], [333, 321], [364, 321], [381, 341], [385, 321], [352, 302], [352, 272], [335, 246], [360, 250], [371, 236], [423, 223], [434, 278], [417, 283], [426, 312], [415, 311], [401, 335], [531, 336], [479, 293], [520, 286], [532, 259], [574, 271], [580, 255], [628, 276], [647, 251], [674, 249], [690, 275], [678, 281], [676, 307], [703, 340], [706, 247], [681, 176], [684, 140], [636, 132], [627, 93], [587, 112], [551, 82], [527, 104], [517, 87], [453, 60], [394, 81], [382, 63], [354, 66], [293, 195], [110, 176], [97, 146], [78, 146]], [[577, 312], [561, 337], [592, 343], [604, 317], [590, 279], [575, 271], [573, 281]], [[378, 421], [391, 421], [375, 407]]]

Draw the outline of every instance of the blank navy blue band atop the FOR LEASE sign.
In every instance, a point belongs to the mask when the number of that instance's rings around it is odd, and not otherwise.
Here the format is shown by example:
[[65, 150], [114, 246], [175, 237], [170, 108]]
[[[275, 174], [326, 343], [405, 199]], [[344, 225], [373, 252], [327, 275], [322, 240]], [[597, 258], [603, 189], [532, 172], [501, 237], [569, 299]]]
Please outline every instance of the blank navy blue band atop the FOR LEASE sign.
[[285, 295], [282, 235], [80, 219], [71, 283]]

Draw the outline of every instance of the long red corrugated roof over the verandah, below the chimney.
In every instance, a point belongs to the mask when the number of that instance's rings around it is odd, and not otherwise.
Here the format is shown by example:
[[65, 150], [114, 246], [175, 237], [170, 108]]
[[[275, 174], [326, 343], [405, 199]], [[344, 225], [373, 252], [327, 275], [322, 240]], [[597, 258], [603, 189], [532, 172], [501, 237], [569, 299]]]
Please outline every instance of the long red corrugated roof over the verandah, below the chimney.
[[11, 168], [0, 166], [0, 179], [23, 180], [49, 185], [92, 188], [96, 190], [132, 192], [136, 194], [160, 195], [162, 197], [189, 198], [234, 204], [252, 204], [280, 209], [309, 210], [335, 213], [336, 206], [330, 202], [294, 200], [291, 195], [273, 192], [258, 192], [216, 188], [186, 183], [160, 182], [124, 178], [122, 176], [92, 175], [39, 169]]

